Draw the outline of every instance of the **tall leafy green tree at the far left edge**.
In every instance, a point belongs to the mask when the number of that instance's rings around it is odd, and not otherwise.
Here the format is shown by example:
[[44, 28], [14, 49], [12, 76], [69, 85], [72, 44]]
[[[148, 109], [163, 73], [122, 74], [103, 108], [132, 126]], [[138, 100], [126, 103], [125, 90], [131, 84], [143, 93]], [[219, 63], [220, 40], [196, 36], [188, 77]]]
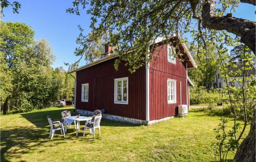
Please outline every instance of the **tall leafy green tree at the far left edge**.
[[34, 41], [34, 31], [24, 23], [4, 23], [0, 21], [0, 57], [1, 57], [1, 103], [4, 114], [8, 111], [8, 102], [17, 90], [13, 83], [17, 64], [24, 50]]

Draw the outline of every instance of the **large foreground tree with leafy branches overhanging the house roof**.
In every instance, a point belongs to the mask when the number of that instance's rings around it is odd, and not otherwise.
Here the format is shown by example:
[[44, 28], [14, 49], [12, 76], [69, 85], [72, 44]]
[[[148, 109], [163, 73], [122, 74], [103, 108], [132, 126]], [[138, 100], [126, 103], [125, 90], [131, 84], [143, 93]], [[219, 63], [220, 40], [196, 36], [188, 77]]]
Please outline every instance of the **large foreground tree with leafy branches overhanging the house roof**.
[[[225, 53], [227, 46], [234, 46], [237, 42], [241, 42], [255, 54], [255, 21], [233, 17], [227, 12], [236, 11], [240, 3], [255, 6], [254, 0], [218, 2], [216, 0], [74, 0], [74, 7], [69, 8], [67, 12], [79, 15], [81, 9], [87, 9], [87, 14], [91, 15], [92, 34], [90, 37], [82, 34], [79, 36], [82, 41], [79, 42], [78, 55], [82, 57], [86, 54], [84, 51], [91, 42], [105, 37], [110, 45], [116, 47], [115, 52], [119, 60], [115, 62], [115, 67], [118, 67], [120, 60], [124, 60], [130, 71], [134, 72], [145, 65], [146, 61], [154, 58], [151, 52], [148, 57], [145, 56], [148, 55], [148, 47], [154, 44], [157, 38], [163, 37], [166, 43], [171, 43], [170, 36], [173, 34], [179, 36], [186, 32], [193, 36], [193, 43], [198, 46], [198, 52], [211, 43], [216, 46], [218, 52]], [[183, 40], [176, 39], [176, 41]], [[178, 55], [181, 54], [178, 53]], [[252, 123], [254, 122], [255, 118]], [[253, 126], [254, 124], [251, 124], [251, 127]], [[248, 139], [255, 141], [255, 136], [251, 134], [255, 132], [250, 132]], [[240, 148], [249, 149], [251, 154], [247, 156], [249, 157], [247, 160], [254, 161], [254, 143], [244, 147], [246, 144], [248, 144], [246, 141], [243, 142]], [[234, 160], [247, 155], [247, 151], [238, 149], [237, 155], [240, 156], [235, 156]]]

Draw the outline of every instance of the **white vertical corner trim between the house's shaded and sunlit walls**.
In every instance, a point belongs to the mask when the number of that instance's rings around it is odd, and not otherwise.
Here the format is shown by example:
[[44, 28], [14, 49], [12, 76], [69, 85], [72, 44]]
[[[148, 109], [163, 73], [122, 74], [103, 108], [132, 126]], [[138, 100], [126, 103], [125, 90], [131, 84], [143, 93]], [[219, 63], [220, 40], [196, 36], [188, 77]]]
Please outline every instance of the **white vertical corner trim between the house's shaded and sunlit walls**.
[[150, 121], [150, 62], [147, 61], [149, 55], [150, 47], [146, 55], [146, 121]]

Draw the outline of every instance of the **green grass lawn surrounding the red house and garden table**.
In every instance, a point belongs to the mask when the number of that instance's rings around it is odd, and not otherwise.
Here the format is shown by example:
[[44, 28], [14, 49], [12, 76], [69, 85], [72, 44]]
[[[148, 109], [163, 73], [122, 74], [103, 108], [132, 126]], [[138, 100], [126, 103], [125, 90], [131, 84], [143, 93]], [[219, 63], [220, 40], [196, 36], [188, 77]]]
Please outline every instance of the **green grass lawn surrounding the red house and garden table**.
[[102, 120], [95, 139], [89, 131], [82, 137], [81, 124], [78, 137], [72, 125], [66, 138], [57, 131], [51, 140], [46, 117], [60, 119], [63, 110], [73, 107], [2, 115], [1, 161], [215, 161], [211, 142], [219, 116], [194, 109], [184, 119], [150, 126]]

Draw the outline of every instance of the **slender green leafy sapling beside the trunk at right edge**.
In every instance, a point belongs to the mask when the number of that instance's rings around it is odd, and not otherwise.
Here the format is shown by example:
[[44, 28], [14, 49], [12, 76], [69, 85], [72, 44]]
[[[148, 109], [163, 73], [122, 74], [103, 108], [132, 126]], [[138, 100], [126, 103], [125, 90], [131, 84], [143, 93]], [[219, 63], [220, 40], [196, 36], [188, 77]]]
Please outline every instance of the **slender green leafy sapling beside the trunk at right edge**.
[[[220, 57], [218, 60], [220, 62], [219, 69], [221, 71], [221, 77], [225, 82], [223, 86], [223, 92], [225, 94], [223, 100], [234, 117], [232, 130], [228, 134], [225, 133], [227, 128], [224, 126], [224, 119], [221, 124], [222, 128], [216, 129], [218, 142], [215, 143], [215, 146], [218, 149], [217, 152], [220, 161], [226, 161], [226, 154], [230, 151], [235, 153], [234, 151], [240, 147], [239, 144], [245, 136], [246, 127], [249, 124], [251, 124], [251, 127], [255, 126], [255, 124], [252, 124], [255, 123], [255, 74], [250, 72], [253, 71], [253, 65], [255, 65], [255, 56], [246, 45], [240, 44], [231, 51], [231, 56]], [[238, 68], [238, 66], [241, 68]], [[239, 84], [239, 87], [232, 87], [229, 82], [236, 82]], [[242, 120], [243, 124], [239, 124], [238, 120]], [[220, 130], [222, 131], [221, 134]], [[251, 130], [255, 129], [251, 128]], [[251, 138], [252, 141], [254, 138], [255, 141], [255, 132], [250, 132], [249, 134], [250, 137], [248, 138]], [[240, 159], [234, 160], [243, 160], [243, 154], [248, 155], [245, 161], [255, 159], [255, 151], [251, 150], [255, 150], [254, 143], [246, 143], [246, 145], [249, 150], [239, 149], [240, 152], [237, 152], [236, 157]], [[243, 143], [241, 146], [244, 147]]]

